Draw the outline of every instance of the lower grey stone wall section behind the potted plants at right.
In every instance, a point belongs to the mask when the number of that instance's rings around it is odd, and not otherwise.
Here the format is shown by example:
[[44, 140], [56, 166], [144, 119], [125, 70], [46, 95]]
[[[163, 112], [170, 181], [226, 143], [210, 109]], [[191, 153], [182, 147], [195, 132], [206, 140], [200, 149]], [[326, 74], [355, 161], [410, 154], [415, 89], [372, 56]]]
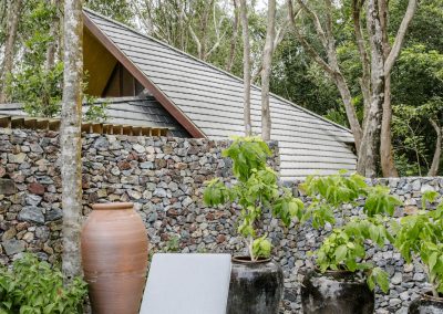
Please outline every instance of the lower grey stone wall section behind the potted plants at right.
[[[379, 178], [367, 180], [370, 185], [384, 185], [391, 189], [391, 193], [396, 195], [404, 203], [404, 208], [398, 208], [394, 217], [400, 218], [405, 213], [414, 213], [421, 208], [421, 195], [425, 190], [435, 190], [443, 196], [443, 178], [419, 178], [419, 177], [404, 177], [404, 178]], [[297, 186], [300, 182], [287, 182], [296, 195], [298, 195]], [[301, 199], [306, 201], [303, 196]], [[358, 214], [360, 209], [353, 209], [352, 212]], [[338, 219], [339, 220], [339, 219]], [[298, 239], [295, 249], [282, 249], [279, 253], [280, 262], [288, 271], [288, 289], [286, 290], [286, 305], [292, 308], [292, 313], [301, 313], [299, 287], [306, 270], [312, 269], [312, 259], [307, 257], [308, 251], [316, 250], [324, 236], [329, 234], [331, 227], [324, 230], [315, 230], [309, 226], [301, 228], [298, 232], [289, 231], [289, 233]], [[287, 239], [289, 239], [287, 237]], [[280, 241], [280, 245], [285, 245], [286, 240]], [[418, 264], [405, 264], [400, 253], [394, 251], [391, 245], [383, 250], [370, 249], [368, 257], [372, 258], [374, 263], [384, 269], [391, 276], [390, 291], [383, 294], [377, 290], [375, 313], [408, 313], [409, 303], [416, 299], [420, 293], [427, 290], [426, 276], [422, 268]], [[289, 287], [290, 286], [290, 287]], [[289, 302], [288, 302], [289, 301]]]

